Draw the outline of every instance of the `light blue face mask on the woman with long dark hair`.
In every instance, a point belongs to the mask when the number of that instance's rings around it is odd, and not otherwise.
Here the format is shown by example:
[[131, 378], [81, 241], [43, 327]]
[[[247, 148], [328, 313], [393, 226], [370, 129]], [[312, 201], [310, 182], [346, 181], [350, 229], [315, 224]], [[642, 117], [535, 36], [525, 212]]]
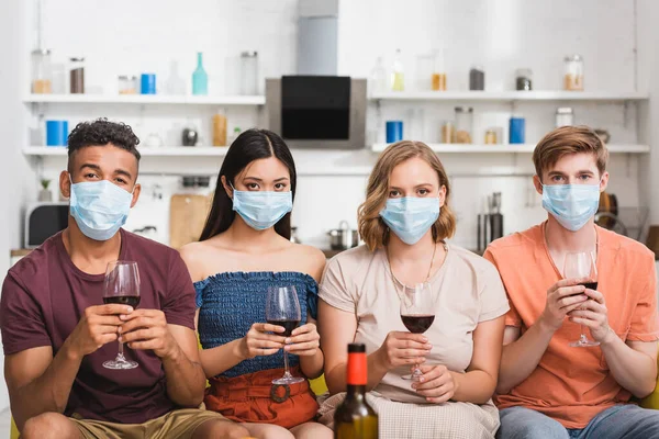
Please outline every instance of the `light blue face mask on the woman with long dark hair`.
[[[233, 185], [232, 185], [233, 188]], [[233, 190], [233, 210], [255, 230], [272, 227], [293, 210], [293, 193]]]

